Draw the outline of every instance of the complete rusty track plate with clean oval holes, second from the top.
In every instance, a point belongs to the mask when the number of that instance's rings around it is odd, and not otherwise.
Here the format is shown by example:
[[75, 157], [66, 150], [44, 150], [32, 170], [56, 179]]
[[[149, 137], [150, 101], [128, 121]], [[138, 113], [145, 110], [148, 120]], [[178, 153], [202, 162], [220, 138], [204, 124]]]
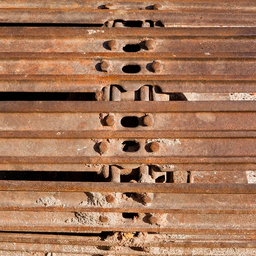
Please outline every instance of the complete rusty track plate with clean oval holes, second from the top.
[[[255, 35], [253, 27], [3, 27], [0, 90], [99, 92], [118, 84], [134, 91], [149, 84], [163, 92], [251, 92]], [[113, 39], [117, 45], [111, 50]], [[127, 44], [139, 52], [124, 52]], [[108, 72], [102, 72], [101, 61], [109, 61]], [[154, 61], [163, 66], [158, 73]], [[122, 67], [130, 64], [140, 71], [124, 73]]]

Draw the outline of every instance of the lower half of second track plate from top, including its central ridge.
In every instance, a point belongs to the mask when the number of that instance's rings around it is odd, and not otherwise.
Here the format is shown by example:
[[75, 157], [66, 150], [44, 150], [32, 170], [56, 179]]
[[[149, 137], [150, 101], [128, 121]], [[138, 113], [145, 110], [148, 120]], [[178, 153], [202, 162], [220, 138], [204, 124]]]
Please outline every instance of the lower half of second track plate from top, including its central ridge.
[[[255, 57], [254, 52], [2, 52], [0, 81], [3, 91], [99, 92], [111, 84], [127, 90], [149, 84], [164, 92], [248, 92], [255, 86]], [[127, 66], [132, 70], [126, 72], [135, 73], [125, 73]]]

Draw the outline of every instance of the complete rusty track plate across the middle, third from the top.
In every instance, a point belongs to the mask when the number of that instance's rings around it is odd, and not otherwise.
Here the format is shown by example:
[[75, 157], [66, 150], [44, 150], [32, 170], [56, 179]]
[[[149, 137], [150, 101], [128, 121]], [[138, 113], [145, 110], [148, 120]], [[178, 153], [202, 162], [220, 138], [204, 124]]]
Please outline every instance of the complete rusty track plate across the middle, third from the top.
[[[138, 126], [123, 127], [122, 118], [131, 116]], [[256, 167], [254, 102], [1, 102], [0, 117], [2, 170]], [[127, 142], [136, 148], [124, 149]]]

